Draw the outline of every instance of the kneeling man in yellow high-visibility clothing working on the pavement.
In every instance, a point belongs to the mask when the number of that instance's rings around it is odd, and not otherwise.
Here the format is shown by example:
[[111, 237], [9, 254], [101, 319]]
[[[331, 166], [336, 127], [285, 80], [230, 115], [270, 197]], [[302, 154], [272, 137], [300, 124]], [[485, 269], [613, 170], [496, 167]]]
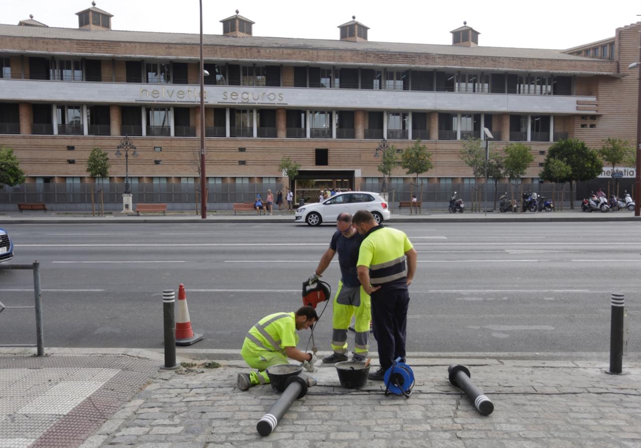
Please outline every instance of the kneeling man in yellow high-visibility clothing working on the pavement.
[[288, 364], [287, 358], [303, 363], [303, 367], [314, 371], [316, 356], [303, 353], [296, 348], [296, 330], [306, 330], [319, 319], [312, 307], [301, 307], [296, 312], [281, 312], [263, 317], [254, 325], [242, 344], [240, 355], [249, 367], [258, 372], [239, 373], [238, 388], [247, 390], [251, 386], [269, 383], [265, 369], [272, 365]]

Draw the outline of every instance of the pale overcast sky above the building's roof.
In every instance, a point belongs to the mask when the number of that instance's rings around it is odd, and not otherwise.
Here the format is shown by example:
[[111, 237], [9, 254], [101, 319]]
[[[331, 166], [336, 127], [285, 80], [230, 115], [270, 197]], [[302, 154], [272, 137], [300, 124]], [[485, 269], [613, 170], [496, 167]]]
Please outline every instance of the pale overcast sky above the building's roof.
[[[75, 15], [90, 0], [0, 0], [0, 23], [17, 25], [34, 15], [48, 26], [78, 28]], [[197, 33], [198, 0], [96, 0], [113, 14], [113, 29]], [[206, 34], [221, 34], [219, 20], [240, 11], [256, 22], [254, 36], [338, 39], [337, 26], [356, 20], [369, 26], [369, 40], [451, 44], [449, 31], [463, 20], [492, 47], [566, 49], [614, 36], [641, 20], [641, 0], [415, 1], [203, 0]]]

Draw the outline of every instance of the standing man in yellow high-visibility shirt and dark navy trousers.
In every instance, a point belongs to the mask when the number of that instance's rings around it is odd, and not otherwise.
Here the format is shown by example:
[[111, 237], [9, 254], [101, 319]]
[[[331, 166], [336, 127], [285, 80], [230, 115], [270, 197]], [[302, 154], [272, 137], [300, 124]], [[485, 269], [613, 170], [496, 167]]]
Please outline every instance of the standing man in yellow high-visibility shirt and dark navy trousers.
[[356, 272], [371, 297], [374, 339], [381, 364], [369, 379], [382, 381], [396, 358], [405, 360], [408, 286], [416, 273], [417, 253], [404, 232], [379, 225], [367, 210], [356, 212], [352, 222], [365, 236], [358, 251]]

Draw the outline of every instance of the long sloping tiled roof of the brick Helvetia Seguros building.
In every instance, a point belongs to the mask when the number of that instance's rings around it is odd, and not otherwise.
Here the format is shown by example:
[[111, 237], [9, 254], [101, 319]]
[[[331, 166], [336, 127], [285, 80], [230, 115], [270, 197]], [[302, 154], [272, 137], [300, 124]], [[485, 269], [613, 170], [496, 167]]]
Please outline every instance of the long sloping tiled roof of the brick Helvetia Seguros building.
[[[0, 36], [95, 40], [106, 42], [140, 42], [163, 44], [199, 44], [199, 35], [181, 33], [154, 33], [149, 31], [118, 31], [75, 28], [40, 28], [0, 24]], [[463, 47], [458, 45], [404, 44], [400, 42], [349, 42], [345, 40], [302, 39], [285, 37], [243, 37], [234, 38], [223, 35], [204, 35], [204, 45], [231, 47], [268, 47], [312, 50], [378, 51], [422, 54], [450, 54], [453, 56], [495, 56], [499, 58], [527, 58], [553, 60], [592, 60], [565, 54], [562, 50], [510, 48], [510, 47]], [[0, 40], [0, 46], [1, 46]], [[0, 48], [1, 49], [1, 48]]]

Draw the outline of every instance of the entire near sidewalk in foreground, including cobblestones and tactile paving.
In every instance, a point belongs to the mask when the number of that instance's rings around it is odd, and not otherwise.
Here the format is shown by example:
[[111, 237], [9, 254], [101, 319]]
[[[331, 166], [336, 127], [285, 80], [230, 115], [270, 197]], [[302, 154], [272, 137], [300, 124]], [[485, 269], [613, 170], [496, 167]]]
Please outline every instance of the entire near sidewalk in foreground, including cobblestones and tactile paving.
[[[237, 373], [247, 371], [240, 358], [161, 371], [163, 355], [153, 351], [47, 353], [0, 352], [0, 447], [641, 447], [641, 362], [626, 357], [627, 374], [613, 376], [604, 373], [607, 354], [408, 355], [409, 399], [385, 397], [380, 382], [344, 389], [334, 367], [321, 367], [318, 385], [262, 437], [256, 423], [278, 396], [269, 385], [237, 390]], [[450, 364], [469, 367], [494, 403], [491, 415], [449, 384]]]

